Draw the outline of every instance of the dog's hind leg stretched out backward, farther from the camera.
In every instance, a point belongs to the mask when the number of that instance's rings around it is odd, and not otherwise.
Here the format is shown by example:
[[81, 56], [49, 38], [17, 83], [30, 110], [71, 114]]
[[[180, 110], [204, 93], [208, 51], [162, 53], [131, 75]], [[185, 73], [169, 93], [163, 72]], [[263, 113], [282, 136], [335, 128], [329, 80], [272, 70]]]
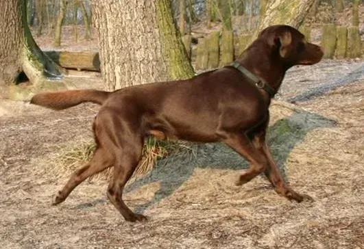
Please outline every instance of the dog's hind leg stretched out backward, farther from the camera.
[[93, 158], [90, 159], [88, 163], [86, 163], [82, 168], [76, 170], [71, 175], [69, 181], [64, 185], [62, 190], [58, 192], [56, 198], [54, 198], [52, 205], [58, 205], [60, 202], [66, 200], [67, 196], [71, 194], [72, 190], [77, 187], [82, 181], [86, 180], [89, 176], [93, 174], [97, 174], [106, 168], [112, 166], [112, 157], [107, 153], [104, 148], [99, 146], [93, 155]]

